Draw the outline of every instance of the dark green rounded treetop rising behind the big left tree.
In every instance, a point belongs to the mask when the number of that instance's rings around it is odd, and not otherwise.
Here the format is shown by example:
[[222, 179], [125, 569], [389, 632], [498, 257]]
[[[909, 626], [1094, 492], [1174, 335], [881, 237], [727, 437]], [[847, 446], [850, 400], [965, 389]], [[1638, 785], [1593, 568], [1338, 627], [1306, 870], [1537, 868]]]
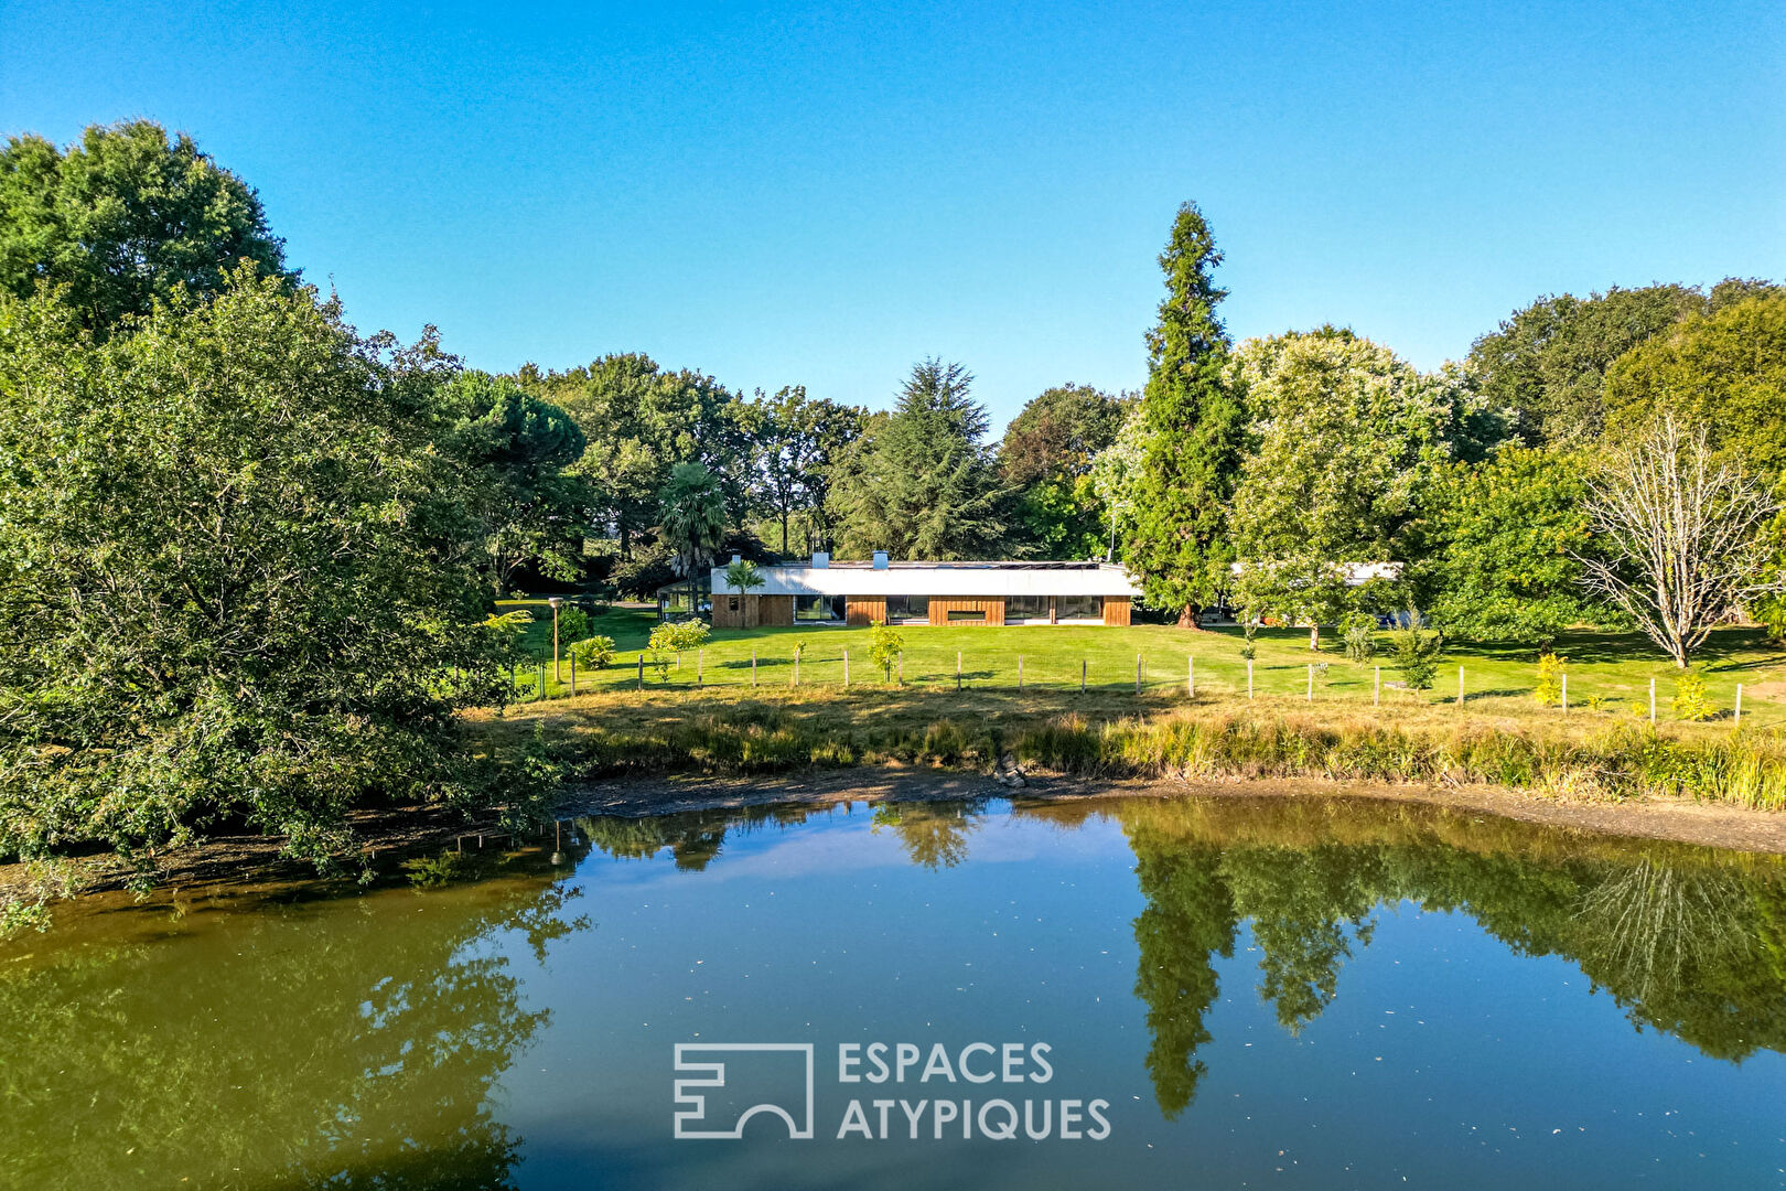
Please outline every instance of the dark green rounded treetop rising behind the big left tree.
[[175, 287], [216, 293], [243, 259], [279, 275], [282, 246], [254, 187], [157, 123], [95, 125], [66, 152], [39, 136], [0, 150], [0, 289], [66, 286], [96, 336]]

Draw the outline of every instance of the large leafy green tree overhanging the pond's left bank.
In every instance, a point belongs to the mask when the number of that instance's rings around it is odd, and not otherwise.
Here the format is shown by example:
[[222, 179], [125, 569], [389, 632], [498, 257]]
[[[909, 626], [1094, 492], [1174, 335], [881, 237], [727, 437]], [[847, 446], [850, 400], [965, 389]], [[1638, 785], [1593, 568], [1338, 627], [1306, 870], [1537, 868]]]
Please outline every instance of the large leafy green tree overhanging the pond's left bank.
[[250, 266], [105, 343], [0, 300], [0, 855], [325, 859], [371, 795], [470, 793], [502, 641], [427, 387]]

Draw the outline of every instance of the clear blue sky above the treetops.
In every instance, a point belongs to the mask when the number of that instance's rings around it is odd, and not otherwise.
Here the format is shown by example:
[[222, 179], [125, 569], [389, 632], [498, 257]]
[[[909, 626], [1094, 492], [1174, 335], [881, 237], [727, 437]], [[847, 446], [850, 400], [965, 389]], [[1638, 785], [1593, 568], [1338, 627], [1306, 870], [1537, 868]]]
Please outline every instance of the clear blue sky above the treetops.
[[1179, 202], [1238, 337], [1422, 368], [1550, 291], [1786, 275], [1786, 5], [7, 0], [0, 132], [150, 116], [363, 329], [1002, 423], [1138, 387]]

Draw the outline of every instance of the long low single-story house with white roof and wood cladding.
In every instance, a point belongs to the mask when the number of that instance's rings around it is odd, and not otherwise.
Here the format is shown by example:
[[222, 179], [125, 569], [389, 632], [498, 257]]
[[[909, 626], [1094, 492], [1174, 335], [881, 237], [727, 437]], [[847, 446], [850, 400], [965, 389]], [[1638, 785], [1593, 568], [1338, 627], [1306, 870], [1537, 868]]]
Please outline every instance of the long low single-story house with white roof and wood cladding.
[[[738, 561], [736, 557], [732, 559]], [[1141, 589], [1107, 562], [868, 562], [763, 566], [763, 586], [738, 591], [713, 568], [713, 627], [1127, 625]]]

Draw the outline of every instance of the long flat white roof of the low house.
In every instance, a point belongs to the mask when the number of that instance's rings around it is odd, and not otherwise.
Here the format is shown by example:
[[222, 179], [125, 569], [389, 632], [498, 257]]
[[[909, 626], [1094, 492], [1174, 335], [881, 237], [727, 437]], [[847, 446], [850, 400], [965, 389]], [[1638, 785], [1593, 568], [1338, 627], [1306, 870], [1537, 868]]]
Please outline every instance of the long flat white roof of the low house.
[[[841, 596], [1129, 596], [1141, 589], [1109, 562], [811, 562], [759, 566], [763, 586], [743, 595]], [[714, 595], [739, 595], [725, 568], [713, 568]]]

